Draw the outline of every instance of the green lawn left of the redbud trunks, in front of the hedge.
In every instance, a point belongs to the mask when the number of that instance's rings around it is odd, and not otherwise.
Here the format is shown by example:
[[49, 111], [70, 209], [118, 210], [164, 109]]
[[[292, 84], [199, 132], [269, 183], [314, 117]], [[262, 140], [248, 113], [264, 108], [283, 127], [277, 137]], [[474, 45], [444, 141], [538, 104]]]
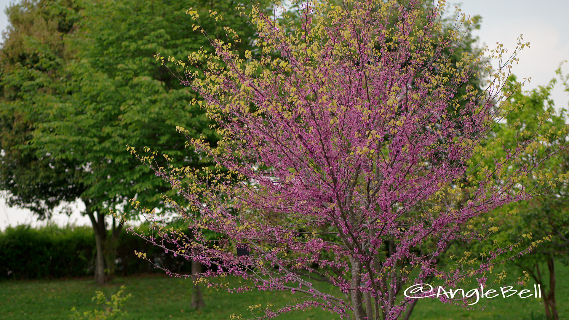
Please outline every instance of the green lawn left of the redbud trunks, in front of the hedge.
[[[228, 278], [229, 281], [237, 281]], [[202, 288], [205, 308], [195, 311], [191, 307], [191, 280], [172, 278], [162, 275], [138, 275], [116, 277], [108, 286], [97, 286], [93, 280], [40, 280], [40, 281], [4, 281], [0, 282], [0, 319], [68, 319], [71, 307], [83, 314], [97, 306], [91, 301], [95, 291], [105, 294], [117, 292], [119, 286], [125, 285], [125, 293], [131, 293], [125, 306], [130, 319], [200, 319], [228, 320], [230, 314], [250, 315], [248, 306], [274, 301], [275, 305], [283, 305], [290, 301], [290, 292], [227, 293], [211, 288]], [[323, 286], [326, 284], [318, 284]], [[294, 295], [295, 297], [298, 294]], [[249, 318], [249, 317], [246, 317]], [[296, 311], [279, 319], [336, 319], [328, 311], [312, 308]]]

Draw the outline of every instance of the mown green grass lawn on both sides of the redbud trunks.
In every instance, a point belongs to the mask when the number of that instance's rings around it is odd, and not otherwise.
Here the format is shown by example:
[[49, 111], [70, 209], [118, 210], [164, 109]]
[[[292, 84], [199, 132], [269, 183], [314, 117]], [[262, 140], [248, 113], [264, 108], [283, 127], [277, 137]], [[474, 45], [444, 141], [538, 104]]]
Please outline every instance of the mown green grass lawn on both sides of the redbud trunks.
[[[561, 320], [569, 320], [569, 267], [556, 265], [556, 300]], [[229, 281], [237, 281], [234, 278]], [[273, 300], [277, 306], [290, 301], [290, 292], [227, 293], [204, 289], [206, 307], [200, 311], [189, 307], [191, 280], [162, 275], [138, 275], [116, 277], [108, 286], [97, 286], [92, 279], [40, 280], [0, 282], [0, 319], [68, 319], [69, 310], [75, 306], [80, 313], [93, 310], [96, 305], [91, 298], [95, 291], [105, 294], [116, 292], [126, 286], [126, 293], [133, 294], [123, 310], [133, 320], [158, 319], [224, 319], [232, 313], [250, 315], [248, 306]], [[325, 286], [325, 284], [318, 284]], [[533, 288], [533, 284], [530, 285]], [[530, 288], [530, 289], [531, 289]], [[322, 288], [324, 289], [324, 288]], [[298, 294], [294, 295], [295, 297]], [[541, 299], [518, 296], [509, 298], [481, 299], [478, 306], [484, 310], [465, 310], [460, 306], [443, 304], [438, 300], [423, 299], [417, 303], [411, 319], [456, 320], [456, 319], [543, 319]], [[532, 316], [533, 311], [533, 316]], [[338, 320], [339, 316], [321, 309], [296, 311], [278, 319]]]

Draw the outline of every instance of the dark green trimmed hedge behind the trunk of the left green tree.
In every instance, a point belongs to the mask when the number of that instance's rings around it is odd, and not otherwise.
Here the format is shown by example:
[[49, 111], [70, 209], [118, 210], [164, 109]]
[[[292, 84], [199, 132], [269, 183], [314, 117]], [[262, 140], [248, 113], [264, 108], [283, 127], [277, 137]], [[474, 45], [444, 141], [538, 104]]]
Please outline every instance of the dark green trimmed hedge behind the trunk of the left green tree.
[[[172, 247], [173, 248], [173, 247]], [[191, 262], [164, 253], [138, 236], [122, 232], [117, 248], [116, 273], [162, 272], [138, 259], [134, 251], [173, 272], [189, 273]], [[96, 256], [93, 229], [86, 226], [8, 227], [0, 232], [0, 279], [35, 279], [89, 276]]]

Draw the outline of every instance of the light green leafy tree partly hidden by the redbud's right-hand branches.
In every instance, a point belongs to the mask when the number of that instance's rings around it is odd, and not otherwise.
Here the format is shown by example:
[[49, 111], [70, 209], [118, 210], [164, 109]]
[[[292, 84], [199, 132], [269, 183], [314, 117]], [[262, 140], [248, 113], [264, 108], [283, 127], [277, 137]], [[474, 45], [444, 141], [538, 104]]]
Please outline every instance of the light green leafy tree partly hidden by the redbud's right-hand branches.
[[[560, 68], [556, 71], [563, 84], [567, 87], [566, 76]], [[508, 90], [512, 96], [505, 103], [513, 106], [513, 112], [505, 117], [505, 121], [494, 128], [493, 135], [501, 137], [506, 145], [512, 146], [517, 141], [528, 140], [529, 132], [538, 131], [550, 134], [550, 138], [542, 140], [544, 146], [561, 145], [567, 141], [566, 134], [561, 129], [567, 121], [567, 110], [555, 110], [550, 94], [557, 79], [553, 79], [546, 86], [539, 86], [531, 91], [522, 92], [516, 84], [516, 78], [511, 76], [508, 81]], [[559, 134], [557, 137], [553, 134]], [[486, 161], [486, 165], [494, 168], [496, 159], [508, 157], [504, 149], [488, 145], [493, 157]], [[539, 168], [533, 176], [521, 177], [527, 179], [528, 188], [546, 186], [543, 193], [531, 200], [509, 204], [490, 212], [488, 215], [472, 221], [472, 229], [484, 229], [494, 233], [492, 240], [497, 245], [513, 245], [512, 251], [507, 255], [512, 257], [509, 265], [516, 266], [519, 274], [506, 274], [498, 270], [502, 276], [497, 280], [506, 284], [518, 281], [521, 284], [533, 282], [539, 285], [543, 306], [547, 319], [558, 319], [555, 302], [555, 268], [554, 260], [567, 263], [569, 256], [569, 215], [567, 213], [567, 195], [569, 180], [564, 174], [569, 169], [569, 154], [566, 149], [561, 150], [557, 157], [539, 161], [538, 155], [542, 148], [529, 150], [526, 155], [528, 162], [533, 162]], [[497, 171], [495, 176], [501, 174]], [[543, 177], [552, 179], [545, 182]], [[488, 252], [492, 248], [488, 244], [469, 243], [457, 245], [455, 251]], [[530, 252], [521, 255], [523, 252]], [[480, 260], [491, 260], [492, 256], [482, 256]], [[549, 269], [549, 281], [544, 281], [545, 270]], [[547, 283], [549, 282], [549, 284]]]

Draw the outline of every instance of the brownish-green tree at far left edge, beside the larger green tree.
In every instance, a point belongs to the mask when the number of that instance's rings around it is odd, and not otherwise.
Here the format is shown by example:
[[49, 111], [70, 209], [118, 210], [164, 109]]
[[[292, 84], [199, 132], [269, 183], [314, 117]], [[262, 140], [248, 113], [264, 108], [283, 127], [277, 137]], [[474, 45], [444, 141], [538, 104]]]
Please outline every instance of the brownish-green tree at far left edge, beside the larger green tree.
[[[10, 20], [0, 50], [2, 107], [0, 188], [9, 190], [7, 204], [27, 208], [39, 219], [50, 218], [61, 202], [72, 202], [85, 186], [79, 163], [55, 161], [24, 147], [33, 124], [42, 121], [43, 101], [65, 64], [63, 36], [73, 32], [81, 6], [69, 2], [22, 1], [7, 7]], [[26, 105], [26, 107], [22, 107]]]

